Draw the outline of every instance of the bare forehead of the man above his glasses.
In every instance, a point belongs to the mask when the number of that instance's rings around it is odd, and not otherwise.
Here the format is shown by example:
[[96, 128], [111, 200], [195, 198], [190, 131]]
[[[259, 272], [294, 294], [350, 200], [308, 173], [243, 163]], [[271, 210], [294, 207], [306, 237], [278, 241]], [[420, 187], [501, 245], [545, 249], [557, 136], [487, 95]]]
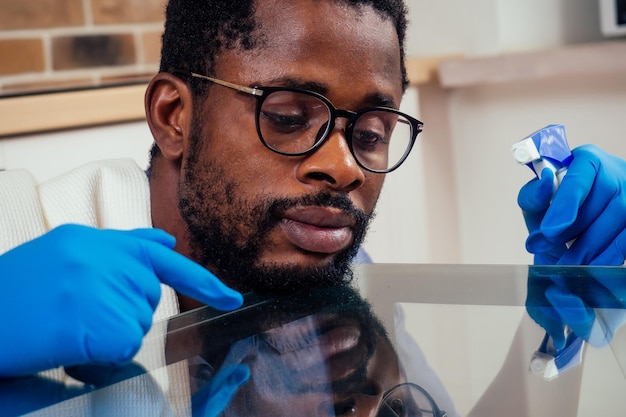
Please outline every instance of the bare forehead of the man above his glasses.
[[[263, 0], [256, 6], [252, 50], [224, 51], [216, 74], [237, 71], [240, 81], [301, 79], [380, 90], [399, 103], [400, 45], [393, 22], [371, 6], [337, 0]], [[371, 93], [371, 91], [370, 91]]]

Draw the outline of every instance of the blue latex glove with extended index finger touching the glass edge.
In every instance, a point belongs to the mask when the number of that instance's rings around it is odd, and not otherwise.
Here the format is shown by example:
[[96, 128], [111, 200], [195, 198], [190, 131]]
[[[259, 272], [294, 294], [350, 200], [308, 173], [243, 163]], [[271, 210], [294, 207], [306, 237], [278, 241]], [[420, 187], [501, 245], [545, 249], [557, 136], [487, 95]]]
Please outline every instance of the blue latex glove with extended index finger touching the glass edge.
[[65, 225], [0, 256], [0, 378], [129, 362], [152, 324], [161, 282], [218, 309], [242, 304], [174, 245], [158, 229]]

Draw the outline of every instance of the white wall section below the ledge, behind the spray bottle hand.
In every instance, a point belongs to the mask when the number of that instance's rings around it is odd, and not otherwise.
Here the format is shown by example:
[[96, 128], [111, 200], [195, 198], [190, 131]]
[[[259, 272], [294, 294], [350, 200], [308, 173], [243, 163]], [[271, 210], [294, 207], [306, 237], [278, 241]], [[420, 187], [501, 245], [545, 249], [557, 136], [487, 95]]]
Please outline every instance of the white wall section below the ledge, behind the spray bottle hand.
[[[547, 124], [562, 123], [571, 147], [595, 143], [626, 156], [625, 110], [626, 74], [452, 92], [451, 150], [462, 262], [524, 263], [527, 258], [523, 256], [526, 231], [516, 198], [532, 173], [512, 161], [513, 142]], [[477, 240], [478, 236], [483, 239]]]

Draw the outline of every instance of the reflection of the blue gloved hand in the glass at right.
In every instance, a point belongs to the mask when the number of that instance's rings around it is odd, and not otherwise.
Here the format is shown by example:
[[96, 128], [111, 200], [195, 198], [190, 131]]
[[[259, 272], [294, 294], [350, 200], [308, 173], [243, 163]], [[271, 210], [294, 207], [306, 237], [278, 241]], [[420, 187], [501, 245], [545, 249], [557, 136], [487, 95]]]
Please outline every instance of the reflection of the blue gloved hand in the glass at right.
[[626, 280], [621, 269], [531, 267], [526, 310], [553, 340], [565, 346], [566, 326], [592, 346], [611, 342], [626, 321]]

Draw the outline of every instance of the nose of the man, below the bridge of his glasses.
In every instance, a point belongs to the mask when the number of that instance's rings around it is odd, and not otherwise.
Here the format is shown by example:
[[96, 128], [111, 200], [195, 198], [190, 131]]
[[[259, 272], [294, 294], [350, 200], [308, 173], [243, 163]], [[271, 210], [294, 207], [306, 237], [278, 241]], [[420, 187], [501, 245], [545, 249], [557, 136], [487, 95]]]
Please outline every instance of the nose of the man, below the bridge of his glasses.
[[355, 190], [365, 182], [365, 173], [350, 152], [341, 126], [335, 126], [324, 143], [304, 158], [297, 176], [304, 183], [342, 192]]

